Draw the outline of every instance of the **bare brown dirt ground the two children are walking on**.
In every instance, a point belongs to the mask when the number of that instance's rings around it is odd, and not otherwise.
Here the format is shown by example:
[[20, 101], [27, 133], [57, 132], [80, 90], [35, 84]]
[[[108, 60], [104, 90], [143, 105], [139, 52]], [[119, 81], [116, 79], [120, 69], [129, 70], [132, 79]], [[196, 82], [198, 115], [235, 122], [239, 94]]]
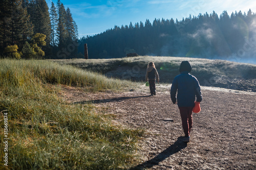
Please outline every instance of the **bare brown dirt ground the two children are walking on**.
[[202, 87], [202, 111], [193, 114], [191, 139], [186, 144], [169, 88], [158, 85], [155, 96], [149, 96], [144, 87], [96, 94], [66, 87], [63, 92], [70, 102], [91, 101], [107, 108], [123, 126], [145, 129], [138, 144], [141, 163], [134, 169], [256, 169], [255, 92]]

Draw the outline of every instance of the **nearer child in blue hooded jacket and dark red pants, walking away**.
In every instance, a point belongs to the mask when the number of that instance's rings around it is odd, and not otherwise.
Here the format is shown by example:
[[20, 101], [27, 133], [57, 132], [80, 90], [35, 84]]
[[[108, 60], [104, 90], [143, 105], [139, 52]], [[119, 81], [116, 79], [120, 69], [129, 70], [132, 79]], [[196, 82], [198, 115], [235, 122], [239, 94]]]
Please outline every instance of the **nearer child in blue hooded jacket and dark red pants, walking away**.
[[[170, 88], [170, 98], [174, 104], [178, 104], [182, 120], [182, 127], [185, 133], [184, 142], [189, 142], [190, 132], [193, 124], [192, 110], [197, 102], [202, 101], [201, 88], [195, 76], [189, 74], [192, 67], [188, 61], [180, 64], [180, 75], [173, 80]], [[178, 93], [177, 93], [178, 90]], [[177, 98], [176, 98], [177, 93]]]

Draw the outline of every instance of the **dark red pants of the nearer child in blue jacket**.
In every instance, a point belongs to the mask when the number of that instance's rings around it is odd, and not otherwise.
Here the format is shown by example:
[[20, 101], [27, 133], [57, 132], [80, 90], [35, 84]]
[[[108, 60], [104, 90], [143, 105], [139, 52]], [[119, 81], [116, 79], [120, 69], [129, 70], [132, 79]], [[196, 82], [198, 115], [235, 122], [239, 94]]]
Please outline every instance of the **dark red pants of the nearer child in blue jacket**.
[[192, 124], [193, 124], [193, 118], [192, 118], [192, 110], [193, 107], [179, 107], [180, 109], [180, 116], [182, 120], [182, 127], [183, 131], [185, 133], [185, 136], [190, 136]]

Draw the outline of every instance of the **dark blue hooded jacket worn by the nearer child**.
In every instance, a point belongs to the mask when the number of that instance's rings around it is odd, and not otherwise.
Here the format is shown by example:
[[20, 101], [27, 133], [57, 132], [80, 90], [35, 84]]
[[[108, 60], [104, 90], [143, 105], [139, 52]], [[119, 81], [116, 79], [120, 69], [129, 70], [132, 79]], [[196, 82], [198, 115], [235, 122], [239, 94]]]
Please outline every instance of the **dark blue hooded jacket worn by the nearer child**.
[[182, 61], [180, 75], [174, 78], [172, 87], [170, 88], [170, 98], [174, 104], [177, 101], [178, 107], [194, 107], [196, 97], [197, 102], [202, 101], [199, 82], [195, 76], [189, 74], [191, 69], [192, 67], [188, 61]]

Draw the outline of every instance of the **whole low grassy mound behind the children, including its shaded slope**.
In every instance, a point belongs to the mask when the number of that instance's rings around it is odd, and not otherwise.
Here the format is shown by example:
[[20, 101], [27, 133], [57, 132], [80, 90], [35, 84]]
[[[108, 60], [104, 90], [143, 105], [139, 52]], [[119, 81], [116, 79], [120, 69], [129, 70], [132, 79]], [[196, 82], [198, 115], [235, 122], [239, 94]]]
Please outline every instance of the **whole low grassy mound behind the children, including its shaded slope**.
[[160, 81], [172, 83], [179, 74], [180, 63], [187, 60], [192, 65], [191, 74], [203, 86], [216, 86], [247, 91], [256, 91], [256, 65], [225, 60], [209, 60], [185, 57], [130, 57], [120, 59], [73, 59], [54, 60], [60, 64], [101, 72], [108, 77], [144, 81], [146, 66], [153, 61]]

